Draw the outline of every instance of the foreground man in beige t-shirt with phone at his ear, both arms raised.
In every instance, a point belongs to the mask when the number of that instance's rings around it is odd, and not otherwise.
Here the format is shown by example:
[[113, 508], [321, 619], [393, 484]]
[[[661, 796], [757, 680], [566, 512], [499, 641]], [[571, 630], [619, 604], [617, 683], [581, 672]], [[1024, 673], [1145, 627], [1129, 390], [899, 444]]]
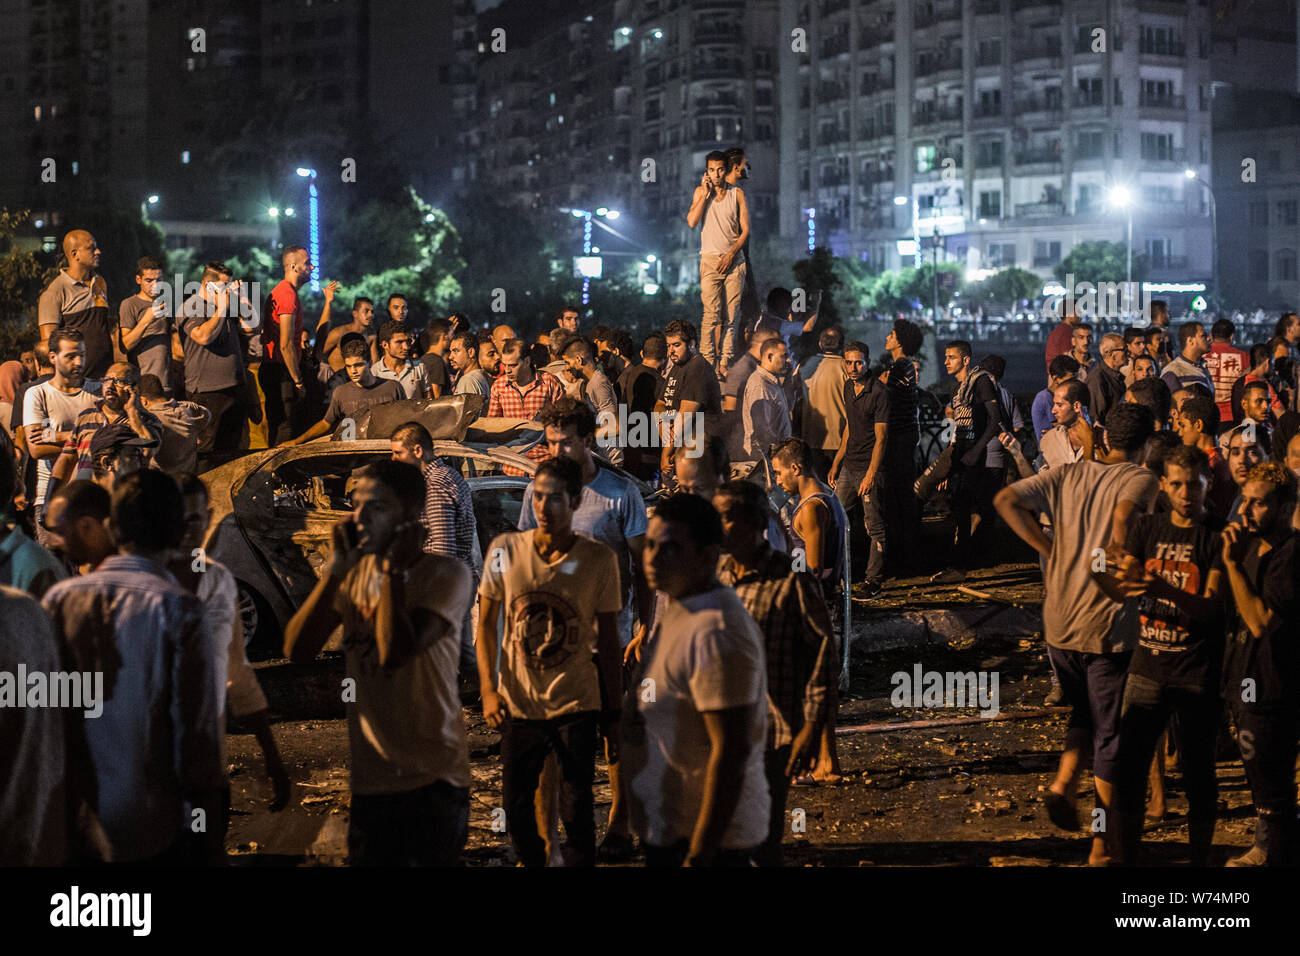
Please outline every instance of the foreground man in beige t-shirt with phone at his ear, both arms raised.
[[343, 626], [352, 813], [348, 861], [454, 866], [469, 834], [469, 752], [456, 688], [469, 568], [420, 549], [424, 479], [403, 462], [365, 467], [354, 511], [332, 531], [325, 574], [285, 627], [309, 663]]

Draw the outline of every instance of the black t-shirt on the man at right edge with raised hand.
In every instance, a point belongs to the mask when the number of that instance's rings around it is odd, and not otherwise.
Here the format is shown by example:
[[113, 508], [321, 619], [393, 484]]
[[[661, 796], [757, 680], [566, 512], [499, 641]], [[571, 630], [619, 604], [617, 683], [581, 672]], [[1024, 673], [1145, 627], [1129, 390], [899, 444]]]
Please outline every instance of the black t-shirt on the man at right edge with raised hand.
[[1271, 633], [1252, 637], [1234, 620], [1223, 656], [1223, 697], [1242, 702], [1243, 682], [1254, 682], [1256, 704], [1280, 704], [1300, 692], [1300, 535], [1290, 528], [1271, 537], [1274, 546], [1260, 557], [1258, 537], [1251, 536], [1242, 572], [1264, 606], [1280, 618]]

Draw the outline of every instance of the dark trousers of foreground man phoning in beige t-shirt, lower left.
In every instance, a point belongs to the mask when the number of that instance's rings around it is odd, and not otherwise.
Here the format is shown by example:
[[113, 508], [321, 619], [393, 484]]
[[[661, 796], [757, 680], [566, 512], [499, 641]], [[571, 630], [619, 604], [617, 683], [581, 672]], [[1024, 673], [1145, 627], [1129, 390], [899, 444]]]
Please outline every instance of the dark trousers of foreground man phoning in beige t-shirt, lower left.
[[350, 866], [455, 866], [469, 838], [469, 791], [446, 780], [404, 793], [352, 795]]

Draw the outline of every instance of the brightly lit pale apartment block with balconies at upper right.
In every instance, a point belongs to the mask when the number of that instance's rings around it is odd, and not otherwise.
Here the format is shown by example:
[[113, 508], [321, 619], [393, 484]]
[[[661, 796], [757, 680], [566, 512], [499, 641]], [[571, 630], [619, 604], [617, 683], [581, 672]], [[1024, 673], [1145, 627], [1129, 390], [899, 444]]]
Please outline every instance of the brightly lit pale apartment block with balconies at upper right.
[[[1210, 274], [1209, 21], [1152, 0], [783, 4], [781, 233], [898, 268], [1044, 278], [1126, 241], [1149, 278]], [[1123, 187], [1130, 209], [1108, 202]], [[1087, 280], [1087, 277], [1078, 277]]]

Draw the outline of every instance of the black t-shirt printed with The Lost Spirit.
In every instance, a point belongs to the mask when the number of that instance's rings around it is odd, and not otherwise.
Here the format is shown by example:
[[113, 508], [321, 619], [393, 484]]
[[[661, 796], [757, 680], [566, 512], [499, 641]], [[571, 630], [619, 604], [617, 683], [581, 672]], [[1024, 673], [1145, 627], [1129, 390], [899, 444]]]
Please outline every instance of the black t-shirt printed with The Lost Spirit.
[[[1157, 578], [1186, 591], [1205, 593], [1210, 571], [1222, 572], [1223, 522], [1206, 515], [1191, 528], [1179, 528], [1167, 514], [1139, 515], [1128, 525], [1126, 550]], [[1223, 658], [1223, 615], [1199, 619], [1171, 601], [1144, 594], [1138, 602], [1138, 648], [1128, 665], [1166, 687], [1213, 691]]]

